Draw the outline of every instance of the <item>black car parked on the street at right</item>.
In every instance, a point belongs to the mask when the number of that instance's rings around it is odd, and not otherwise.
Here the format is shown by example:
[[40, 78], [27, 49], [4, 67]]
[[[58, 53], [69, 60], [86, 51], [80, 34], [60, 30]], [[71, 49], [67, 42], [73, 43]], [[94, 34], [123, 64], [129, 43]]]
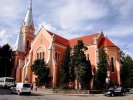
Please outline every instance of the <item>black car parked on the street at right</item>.
[[104, 92], [105, 96], [124, 96], [125, 90], [122, 87], [111, 87]]

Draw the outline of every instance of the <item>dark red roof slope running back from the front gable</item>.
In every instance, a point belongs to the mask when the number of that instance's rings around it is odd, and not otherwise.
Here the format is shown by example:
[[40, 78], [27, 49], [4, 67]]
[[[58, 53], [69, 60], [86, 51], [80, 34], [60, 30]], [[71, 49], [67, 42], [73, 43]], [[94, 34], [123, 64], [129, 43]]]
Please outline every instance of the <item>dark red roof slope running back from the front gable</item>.
[[55, 33], [52, 33], [50, 31], [47, 30], [47, 32], [52, 36], [54, 34], [55, 36], [55, 43], [59, 43], [59, 44], [62, 44], [62, 45], [65, 45], [65, 46], [69, 46], [69, 42], [67, 39], [55, 34]]

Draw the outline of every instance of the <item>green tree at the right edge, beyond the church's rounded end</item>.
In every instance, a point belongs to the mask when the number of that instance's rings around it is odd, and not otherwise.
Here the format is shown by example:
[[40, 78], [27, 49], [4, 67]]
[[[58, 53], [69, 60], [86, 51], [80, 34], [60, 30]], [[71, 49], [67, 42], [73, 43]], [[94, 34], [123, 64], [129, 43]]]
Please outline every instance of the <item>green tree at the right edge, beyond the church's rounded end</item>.
[[132, 88], [133, 82], [133, 60], [129, 55], [121, 53], [121, 85], [125, 88]]

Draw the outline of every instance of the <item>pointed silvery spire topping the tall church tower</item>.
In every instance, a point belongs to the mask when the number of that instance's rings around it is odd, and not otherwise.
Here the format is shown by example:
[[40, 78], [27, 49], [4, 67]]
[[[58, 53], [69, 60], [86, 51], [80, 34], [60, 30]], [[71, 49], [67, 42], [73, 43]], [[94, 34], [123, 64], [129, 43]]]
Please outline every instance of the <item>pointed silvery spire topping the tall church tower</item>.
[[32, 18], [32, 0], [30, 0], [30, 5], [24, 20], [25, 26], [29, 26], [33, 24], [33, 18]]

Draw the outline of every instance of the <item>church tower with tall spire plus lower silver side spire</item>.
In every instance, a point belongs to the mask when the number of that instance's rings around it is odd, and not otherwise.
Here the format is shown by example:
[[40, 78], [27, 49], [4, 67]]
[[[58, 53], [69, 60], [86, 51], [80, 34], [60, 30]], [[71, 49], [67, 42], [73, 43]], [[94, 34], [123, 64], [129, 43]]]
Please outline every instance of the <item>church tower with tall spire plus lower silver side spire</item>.
[[32, 17], [32, 0], [31, 0], [25, 19], [21, 25], [20, 33], [16, 41], [14, 51], [26, 52], [27, 50], [29, 50], [31, 47], [31, 42], [35, 38], [34, 33], [35, 33], [35, 28]]

